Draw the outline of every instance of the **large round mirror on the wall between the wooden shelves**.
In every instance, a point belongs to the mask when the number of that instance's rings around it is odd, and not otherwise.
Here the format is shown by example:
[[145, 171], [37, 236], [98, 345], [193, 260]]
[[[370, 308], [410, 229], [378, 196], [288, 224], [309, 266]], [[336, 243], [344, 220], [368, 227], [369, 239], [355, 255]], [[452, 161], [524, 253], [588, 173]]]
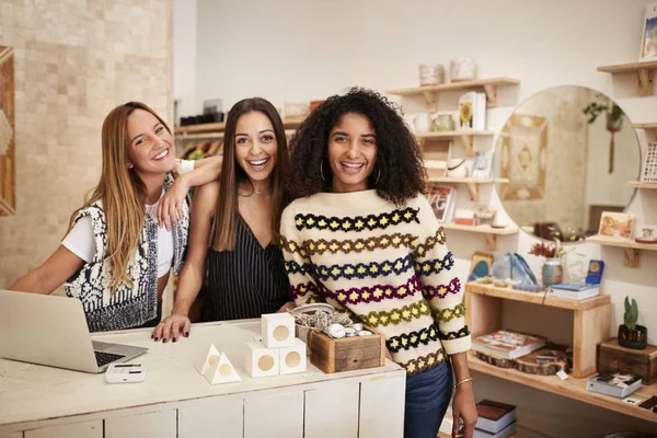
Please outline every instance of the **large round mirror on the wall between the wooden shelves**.
[[499, 199], [527, 232], [579, 241], [602, 211], [623, 211], [634, 195], [641, 147], [609, 96], [585, 87], [534, 94], [505, 124], [495, 148]]

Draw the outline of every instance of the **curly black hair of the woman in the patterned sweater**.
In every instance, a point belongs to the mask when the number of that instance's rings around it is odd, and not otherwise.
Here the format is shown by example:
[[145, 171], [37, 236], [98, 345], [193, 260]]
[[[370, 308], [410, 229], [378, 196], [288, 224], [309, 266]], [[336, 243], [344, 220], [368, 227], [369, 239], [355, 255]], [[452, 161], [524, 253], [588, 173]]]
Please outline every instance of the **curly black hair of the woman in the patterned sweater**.
[[367, 117], [377, 135], [377, 159], [369, 187], [397, 206], [425, 193], [425, 168], [419, 146], [397, 106], [374, 91], [351, 88], [346, 94], [333, 95], [318, 106], [292, 138], [286, 178], [291, 199], [331, 187], [328, 135], [342, 116], [349, 113]]

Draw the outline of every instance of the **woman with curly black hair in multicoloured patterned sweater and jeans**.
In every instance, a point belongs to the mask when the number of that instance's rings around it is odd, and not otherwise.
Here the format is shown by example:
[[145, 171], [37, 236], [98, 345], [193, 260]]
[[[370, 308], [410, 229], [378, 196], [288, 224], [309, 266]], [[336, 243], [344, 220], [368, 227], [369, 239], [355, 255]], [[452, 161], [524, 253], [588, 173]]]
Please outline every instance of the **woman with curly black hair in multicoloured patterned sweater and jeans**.
[[281, 218], [290, 296], [298, 306], [326, 301], [385, 338], [407, 372], [405, 437], [436, 437], [453, 388], [454, 433], [462, 419], [472, 437], [463, 292], [424, 174], [415, 138], [387, 99], [351, 89], [319, 106], [292, 140], [287, 187], [296, 200]]

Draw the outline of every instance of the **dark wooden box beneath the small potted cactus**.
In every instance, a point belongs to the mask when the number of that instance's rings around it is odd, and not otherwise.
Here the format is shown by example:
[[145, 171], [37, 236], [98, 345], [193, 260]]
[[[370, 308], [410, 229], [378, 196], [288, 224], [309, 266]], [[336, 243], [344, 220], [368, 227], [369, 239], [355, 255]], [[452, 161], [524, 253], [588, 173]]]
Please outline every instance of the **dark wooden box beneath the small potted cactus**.
[[615, 337], [598, 344], [598, 372], [625, 372], [641, 377], [644, 384], [657, 382], [657, 346], [645, 349], [621, 347]]

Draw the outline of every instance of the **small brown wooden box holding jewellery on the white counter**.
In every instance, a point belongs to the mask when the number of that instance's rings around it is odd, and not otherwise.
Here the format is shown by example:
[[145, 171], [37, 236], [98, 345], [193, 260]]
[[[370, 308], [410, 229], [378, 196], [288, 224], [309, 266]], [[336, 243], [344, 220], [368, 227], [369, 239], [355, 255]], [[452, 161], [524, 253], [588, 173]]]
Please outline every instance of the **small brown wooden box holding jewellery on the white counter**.
[[310, 362], [326, 373], [385, 365], [385, 342], [378, 334], [334, 339], [311, 330], [308, 334]]

